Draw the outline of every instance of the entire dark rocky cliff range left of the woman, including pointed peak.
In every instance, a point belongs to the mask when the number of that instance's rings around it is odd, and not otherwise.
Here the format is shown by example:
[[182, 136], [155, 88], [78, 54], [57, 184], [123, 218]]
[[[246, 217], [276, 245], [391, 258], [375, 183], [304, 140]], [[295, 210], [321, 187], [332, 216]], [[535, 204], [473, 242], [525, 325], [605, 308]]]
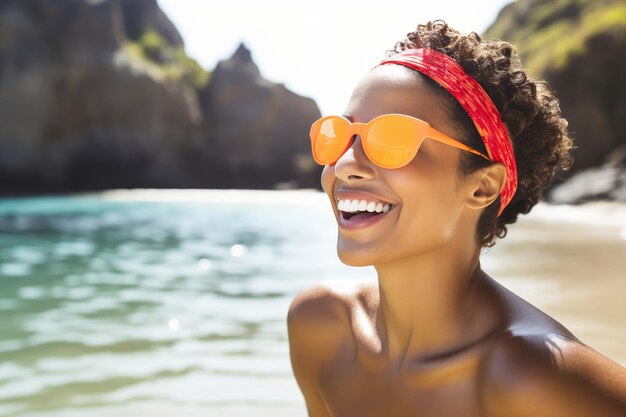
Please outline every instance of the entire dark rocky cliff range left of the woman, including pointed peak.
[[210, 77], [156, 0], [0, 0], [0, 192], [317, 185], [317, 106], [244, 67]]

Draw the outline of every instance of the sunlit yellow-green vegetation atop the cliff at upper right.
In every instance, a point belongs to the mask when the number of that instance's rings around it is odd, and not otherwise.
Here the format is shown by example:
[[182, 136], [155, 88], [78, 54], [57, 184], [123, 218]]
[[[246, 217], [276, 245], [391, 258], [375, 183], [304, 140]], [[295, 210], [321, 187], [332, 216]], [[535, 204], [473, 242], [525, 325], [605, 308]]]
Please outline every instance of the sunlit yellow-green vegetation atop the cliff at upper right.
[[500, 11], [483, 36], [513, 43], [524, 66], [540, 76], [563, 70], [598, 35], [626, 41], [624, 0], [518, 0]]

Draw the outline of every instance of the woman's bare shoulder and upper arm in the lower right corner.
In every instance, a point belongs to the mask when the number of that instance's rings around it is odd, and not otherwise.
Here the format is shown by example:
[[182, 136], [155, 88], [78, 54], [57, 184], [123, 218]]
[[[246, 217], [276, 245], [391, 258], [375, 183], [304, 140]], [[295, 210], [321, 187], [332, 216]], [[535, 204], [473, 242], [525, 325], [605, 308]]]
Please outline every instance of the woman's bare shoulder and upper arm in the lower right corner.
[[487, 416], [626, 417], [626, 369], [579, 342], [513, 337], [481, 378]]

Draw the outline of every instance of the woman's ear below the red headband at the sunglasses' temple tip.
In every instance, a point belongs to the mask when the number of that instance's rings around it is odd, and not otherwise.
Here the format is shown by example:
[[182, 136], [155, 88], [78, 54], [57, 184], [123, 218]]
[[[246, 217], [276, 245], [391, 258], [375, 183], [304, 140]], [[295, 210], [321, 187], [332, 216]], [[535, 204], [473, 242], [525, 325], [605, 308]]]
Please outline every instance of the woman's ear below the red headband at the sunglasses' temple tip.
[[506, 181], [506, 168], [497, 162], [473, 172], [467, 179], [465, 206], [480, 210], [493, 203]]

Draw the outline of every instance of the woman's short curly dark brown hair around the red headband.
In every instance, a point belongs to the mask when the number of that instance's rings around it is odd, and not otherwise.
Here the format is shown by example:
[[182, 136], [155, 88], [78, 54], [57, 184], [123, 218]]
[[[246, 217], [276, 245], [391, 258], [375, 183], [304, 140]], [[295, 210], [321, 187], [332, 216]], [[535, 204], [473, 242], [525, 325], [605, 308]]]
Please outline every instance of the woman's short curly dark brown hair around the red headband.
[[[567, 121], [561, 117], [559, 100], [546, 81], [534, 80], [526, 73], [515, 47], [508, 42], [483, 40], [475, 32], [463, 35], [444, 21], [435, 20], [418, 25], [394, 49], [386, 51], [386, 56], [410, 48], [433, 49], [458, 62], [487, 92], [507, 127], [517, 163], [518, 186], [500, 217], [500, 196], [480, 216], [477, 241], [481, 247], [491, 247], [496, 236], [506, 236], [506, 225], [515, 223], [520, 213], [530, 212], [542, 199], [544, 189], [572, 165], [574, 145]], [[486, 154], [480, 134], [459, 102], [432, 79], [415, 73], [437, 91], [451, 121], [466, 133], [466, 144]], [[484, 158], [463, 152], [459, 174], [469, 175], [489, 164]]]

